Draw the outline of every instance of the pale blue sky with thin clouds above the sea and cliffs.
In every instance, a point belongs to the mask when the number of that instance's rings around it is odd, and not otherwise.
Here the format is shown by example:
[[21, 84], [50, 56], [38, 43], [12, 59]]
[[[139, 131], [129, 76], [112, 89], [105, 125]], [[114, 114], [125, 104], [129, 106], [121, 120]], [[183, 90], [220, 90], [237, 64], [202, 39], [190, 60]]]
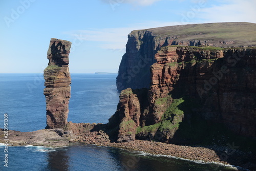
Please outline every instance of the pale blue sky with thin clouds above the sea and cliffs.
[[43, 73], [53, 37], [72, 42], [71, 73], [117, 73], [133, 30], [255, 16], [255, 0], [0, 0], [0, 73]]

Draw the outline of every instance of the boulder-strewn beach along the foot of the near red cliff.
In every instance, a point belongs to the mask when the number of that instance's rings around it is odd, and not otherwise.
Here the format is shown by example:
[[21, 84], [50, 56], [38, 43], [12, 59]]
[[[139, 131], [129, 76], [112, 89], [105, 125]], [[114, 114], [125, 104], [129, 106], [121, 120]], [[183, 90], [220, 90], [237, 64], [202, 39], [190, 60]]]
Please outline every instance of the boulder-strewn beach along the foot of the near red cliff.
[[[98, 134], [102, 137], [102, 134]], [[139, 151], [152, 155], [165, 155], [199, 161], [204, 163], [219, 163], [233, 165], [238, 170], [247, 168], [256, 170], [256, 156], [251, 153], [239, 151], [235, 145], [231, 146], [195, 146], [195, 145], [176, 145], [163, 143], [158, 141], [134, 140], [130, 142], [110, 142], [108, 139], [83, 139], [80, 141], [73, 140], [72, 142], [84, 142], [86, 144], [95, 144], [100, 146], [111, 146], [122, 148], [127, 151]]]

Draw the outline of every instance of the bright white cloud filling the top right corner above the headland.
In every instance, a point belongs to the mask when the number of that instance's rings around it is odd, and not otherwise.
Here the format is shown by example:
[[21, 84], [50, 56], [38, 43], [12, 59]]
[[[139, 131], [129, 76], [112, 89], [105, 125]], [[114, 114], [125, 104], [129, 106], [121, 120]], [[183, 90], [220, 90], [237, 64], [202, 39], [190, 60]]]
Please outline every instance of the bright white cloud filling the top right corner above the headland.
[[255, 0], [223, 0], [225, 4], [202, 9], [199, 18], [208, 22], [250, 22], [256, 23]]

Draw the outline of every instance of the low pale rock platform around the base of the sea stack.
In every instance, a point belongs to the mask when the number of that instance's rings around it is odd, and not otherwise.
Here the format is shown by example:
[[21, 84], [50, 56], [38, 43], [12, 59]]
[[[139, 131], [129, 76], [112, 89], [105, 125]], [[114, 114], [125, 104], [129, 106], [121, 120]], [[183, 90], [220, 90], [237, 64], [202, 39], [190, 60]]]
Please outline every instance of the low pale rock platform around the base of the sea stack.
[[[4, 129], [0, 129], [0, 143], [4, 141]], [[69, 146], [70, 142], [108, 145], [105, 124], [68, 122], [65, 129], [45, 129], [33, 132], [8, 131], [8, 145], [35, 145], [46, 147]]]

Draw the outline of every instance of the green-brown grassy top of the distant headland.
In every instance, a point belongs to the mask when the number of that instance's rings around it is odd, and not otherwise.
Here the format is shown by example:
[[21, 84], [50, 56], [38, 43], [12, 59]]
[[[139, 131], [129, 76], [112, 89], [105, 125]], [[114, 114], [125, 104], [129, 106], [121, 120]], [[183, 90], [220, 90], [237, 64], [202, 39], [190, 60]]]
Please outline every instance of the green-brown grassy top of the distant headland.
[[[256, 44], [254, 23], [206, 23], [146, 29], [160, 37], [177, 37], [175, 40], [225, 40], [236, 42], [232, 46]], [[138, 30], [131, 34], [137, 34]], [[226, 42], [224, 42], [226, 43]]]

